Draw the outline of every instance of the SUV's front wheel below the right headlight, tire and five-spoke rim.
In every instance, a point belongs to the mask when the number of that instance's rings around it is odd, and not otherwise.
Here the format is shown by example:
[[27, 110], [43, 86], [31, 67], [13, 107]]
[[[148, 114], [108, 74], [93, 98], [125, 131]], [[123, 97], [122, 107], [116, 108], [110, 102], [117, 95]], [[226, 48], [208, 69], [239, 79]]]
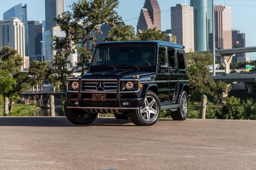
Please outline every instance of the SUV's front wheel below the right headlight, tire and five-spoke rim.
[[[148, 103], [148, 109], [145, 109], [146, 99]], [[154, 99], [154, 100], [153, 100]], [[149, 101], [148, 101], [149, 100]], [[149, 105], [151, 102], [152, 105]], [[153, 108], [154, 107], [154, 108]], [[155, 110], [155, 114], [152, 113]], [[151, 113], [153, 115], [151, 118]], [[160, 101], [158, 96], [153, 91], [148, 91], [142, 107], [139, 110], [129, 110], [128, 115], [132, 123], [138, 126], [151, 126], [154, 125], [160, 116]]]

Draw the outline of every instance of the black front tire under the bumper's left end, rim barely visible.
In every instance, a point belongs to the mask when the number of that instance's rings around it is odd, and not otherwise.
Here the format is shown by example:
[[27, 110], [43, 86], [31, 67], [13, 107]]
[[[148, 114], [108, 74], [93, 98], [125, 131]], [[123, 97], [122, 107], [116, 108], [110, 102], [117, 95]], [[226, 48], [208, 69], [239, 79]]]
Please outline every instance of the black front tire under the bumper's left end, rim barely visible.
[[67, 108], [66, 102], [64, 111], [68, 120], [75, 125], [88, 125], [98, 117], [98, 113], [87, 113], [81, 109]]

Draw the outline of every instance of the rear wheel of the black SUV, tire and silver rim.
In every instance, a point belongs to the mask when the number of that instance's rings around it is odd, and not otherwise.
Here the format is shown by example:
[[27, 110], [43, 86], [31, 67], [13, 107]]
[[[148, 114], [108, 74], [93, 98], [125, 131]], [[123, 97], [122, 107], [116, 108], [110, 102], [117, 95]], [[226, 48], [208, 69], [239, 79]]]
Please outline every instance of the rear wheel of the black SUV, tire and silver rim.
[[[184, 99], [186, 99], [186, 101], [184, 101]], [[188, 95], [184, 90], [180, 95], [179, 104], [180, 107], [177, 109], [177, 111], [171, 112], [172, 119], [174, 121], [184, 121], [188, 116]], [[184, 107], [186, 107], [186, 109], [184, 109]]]

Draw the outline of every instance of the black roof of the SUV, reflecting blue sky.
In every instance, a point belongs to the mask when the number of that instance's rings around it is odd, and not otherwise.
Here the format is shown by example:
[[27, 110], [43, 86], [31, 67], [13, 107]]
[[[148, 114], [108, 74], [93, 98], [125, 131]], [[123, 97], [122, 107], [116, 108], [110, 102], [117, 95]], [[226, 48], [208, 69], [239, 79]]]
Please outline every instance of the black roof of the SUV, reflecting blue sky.
[[158, 45], [164, 45], [168, 47], [175, 47], [175, 48], [184, 48], [183, 45], [176, 44], [176, 43], [170, 43], [170, 42], [163, 42], [163, 41], [123, 41], [123, 42], [103, 42], [99, 43], [98, 45], [110, 45], [110, 44], [126, 44], [126, 43], [154, 43]]

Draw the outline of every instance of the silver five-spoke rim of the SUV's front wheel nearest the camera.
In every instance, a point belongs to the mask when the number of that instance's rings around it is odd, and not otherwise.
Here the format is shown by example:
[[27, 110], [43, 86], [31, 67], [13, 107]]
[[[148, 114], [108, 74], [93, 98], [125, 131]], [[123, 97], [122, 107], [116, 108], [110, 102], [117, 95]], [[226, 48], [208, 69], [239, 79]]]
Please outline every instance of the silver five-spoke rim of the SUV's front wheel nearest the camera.
[[151, 96], [147, 96], [142, 107], [140, 107], [140, 114], [142, 115], [142, 118], [146, 121], [152, 121], [156, 118], [157, 113], [158, 105], [156, 100]]

